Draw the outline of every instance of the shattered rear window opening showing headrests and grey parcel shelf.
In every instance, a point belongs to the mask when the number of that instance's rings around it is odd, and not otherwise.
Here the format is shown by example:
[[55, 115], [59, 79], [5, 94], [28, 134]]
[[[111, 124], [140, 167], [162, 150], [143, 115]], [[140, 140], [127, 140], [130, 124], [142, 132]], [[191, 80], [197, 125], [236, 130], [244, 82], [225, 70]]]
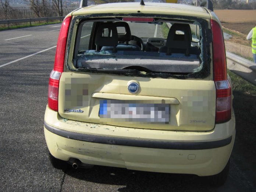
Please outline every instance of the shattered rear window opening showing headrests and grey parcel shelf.
[[138, 18], [74, 18], [72, 24], [79, 23], [72, 60], [75, 68], [161, 78], [209, 75], [211, 39], [206, 20], [146, 17], [151, 19], [146, 22]]

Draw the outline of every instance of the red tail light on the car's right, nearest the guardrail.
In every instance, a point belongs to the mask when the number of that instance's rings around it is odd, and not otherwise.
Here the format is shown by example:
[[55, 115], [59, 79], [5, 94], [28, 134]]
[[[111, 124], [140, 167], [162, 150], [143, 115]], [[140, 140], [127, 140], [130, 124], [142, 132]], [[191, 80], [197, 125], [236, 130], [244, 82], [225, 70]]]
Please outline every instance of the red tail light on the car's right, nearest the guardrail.
[[223, 33], [220, 25], [211, 19], [213, 32], [213, 72], [216, 86], [216, 123], [229, 121], [231, 118], [231, 85], [227, 80], [227, 64]]

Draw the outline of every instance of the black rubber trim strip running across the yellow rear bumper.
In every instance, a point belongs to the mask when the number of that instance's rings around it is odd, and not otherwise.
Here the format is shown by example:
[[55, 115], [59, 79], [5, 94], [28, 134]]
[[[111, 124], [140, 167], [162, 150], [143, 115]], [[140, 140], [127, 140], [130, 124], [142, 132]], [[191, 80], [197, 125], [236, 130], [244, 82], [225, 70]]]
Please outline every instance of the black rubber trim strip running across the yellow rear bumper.
[[218, 140], [218, 141], [207, 141], [207, 142], [164, 142], [164, 141], [147, 141], [139, 139], [125, 139], [115, 138], [107, 136], [81, 134], [63, 129], [58, 129], [44, 123], [45, 128], [64, 138], [73, 139], [77, 141], [85, 141], [91, 143], [109, 144], [109, 145], [120, 145], [130, 147], [146, 147], [153, 149], [175, 149], [175, 150], [202, 150], [202, 149], [214, 149], [223, 147], [231, 143], [232, 136]]

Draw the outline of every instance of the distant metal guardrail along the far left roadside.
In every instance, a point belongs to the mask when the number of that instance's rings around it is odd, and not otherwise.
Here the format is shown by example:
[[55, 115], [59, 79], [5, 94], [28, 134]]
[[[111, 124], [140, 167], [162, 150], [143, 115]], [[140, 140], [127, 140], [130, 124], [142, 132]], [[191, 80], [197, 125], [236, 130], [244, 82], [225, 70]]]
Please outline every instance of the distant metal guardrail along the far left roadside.
[[27, 18], [27, 19], [8, 19], [8, 20], [0, 20], [0, 24], [7, 24], [8, 27], [10, 24], [13, 23], [24, 23], [29, 22], [31, 25], [31, 22], [34, 21], [51, 21], [51, 20], [58, 20], [58, 19], [64, 19], [65, 17], [40, 17], [40, 18]]

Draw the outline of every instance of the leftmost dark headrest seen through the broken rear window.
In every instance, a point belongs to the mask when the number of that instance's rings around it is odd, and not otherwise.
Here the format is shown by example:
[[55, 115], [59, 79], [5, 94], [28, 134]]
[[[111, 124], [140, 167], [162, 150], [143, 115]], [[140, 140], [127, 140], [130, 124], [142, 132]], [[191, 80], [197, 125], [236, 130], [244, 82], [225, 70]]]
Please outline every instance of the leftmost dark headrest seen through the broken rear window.
[[[105, 30], [108, 29], [108, 35], [104, 36]], [[111, 34], [111, 36], [110, 36]], [[100, 51], [100, 47], [109, 46], [113, 47], [113, 52], [116, 52], [118, 44], [117, 28], [111, 22], [101, 23], [96, 33], [95, 45], [96, 51]]]

